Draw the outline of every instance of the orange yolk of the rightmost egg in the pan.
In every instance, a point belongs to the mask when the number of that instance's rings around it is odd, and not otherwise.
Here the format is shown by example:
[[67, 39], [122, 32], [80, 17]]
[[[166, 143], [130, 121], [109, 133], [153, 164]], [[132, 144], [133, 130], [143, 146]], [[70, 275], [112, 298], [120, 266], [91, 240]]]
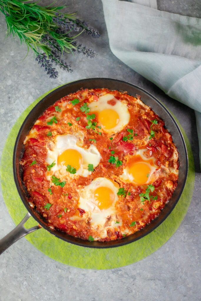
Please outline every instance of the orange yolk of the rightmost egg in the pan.
[[133, 181], [137, 184], [146, 183], [151, 169], [148, 164], [144, 162], [137, 162], [130, 166], [129, 173], [133, 176]]

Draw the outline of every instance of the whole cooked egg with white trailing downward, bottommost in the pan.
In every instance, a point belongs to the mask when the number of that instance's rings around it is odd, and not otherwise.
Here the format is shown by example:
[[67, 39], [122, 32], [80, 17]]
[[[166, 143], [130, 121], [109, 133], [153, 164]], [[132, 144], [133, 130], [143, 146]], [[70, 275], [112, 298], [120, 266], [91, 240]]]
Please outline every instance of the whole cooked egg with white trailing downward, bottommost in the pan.
[[108, 228], [121, 226], [121, 221], [116, 224], [118, 189], [116, 182], [100, 177], [80, 191], [78, 206], [91, 218], [91, 226], [100, 233], [100, 238], [107, 236]]

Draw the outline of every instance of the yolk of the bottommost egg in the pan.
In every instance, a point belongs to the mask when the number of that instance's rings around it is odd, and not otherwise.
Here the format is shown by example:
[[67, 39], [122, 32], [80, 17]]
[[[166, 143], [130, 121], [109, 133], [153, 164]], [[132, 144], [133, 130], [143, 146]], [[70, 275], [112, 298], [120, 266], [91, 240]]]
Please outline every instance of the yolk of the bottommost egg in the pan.
[[114, 201], [114, 193], [108, 187], [98, 187], [94, 191], [94, 198], [98, 203], [99, 209], [108, 209]]

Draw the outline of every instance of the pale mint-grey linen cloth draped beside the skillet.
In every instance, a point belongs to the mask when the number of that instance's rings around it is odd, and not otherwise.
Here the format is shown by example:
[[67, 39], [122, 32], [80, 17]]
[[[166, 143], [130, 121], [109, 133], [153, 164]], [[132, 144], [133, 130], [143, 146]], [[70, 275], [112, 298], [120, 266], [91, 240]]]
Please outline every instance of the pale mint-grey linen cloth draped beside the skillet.
[[201, 162], [201, 19], [157, 10], [156, 0], [102, 0], [111, 51], [193, 108]]

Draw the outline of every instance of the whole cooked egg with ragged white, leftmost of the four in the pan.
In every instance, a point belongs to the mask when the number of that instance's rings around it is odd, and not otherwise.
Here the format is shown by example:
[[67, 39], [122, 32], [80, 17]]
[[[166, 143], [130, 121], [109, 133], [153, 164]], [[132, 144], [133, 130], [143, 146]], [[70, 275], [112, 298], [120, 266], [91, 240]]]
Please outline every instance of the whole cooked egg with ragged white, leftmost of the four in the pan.
[[[48, 150], [47, 165], [55, 163], [50, 171], [46, 172], [48, 180], [51, 180], [52, 175], [62, 180], [65, 177], [74, 177], [76, 175], [87, 177], [92, 173], [88, 170], [88, 164], [93, 164], [95, 168], [100, 162], [100, 153], [95, 145], [83, 148], [80, 146], [81, 144], [82, 139], [80, 138], [80, 141], [78, 141], [78, 138], [74, 135], [57, 135], [55, 142], [51, 142], [46, 146]], [[75, 168], [76, 173], [71, 174], [66, 171], [67, 165]]]

